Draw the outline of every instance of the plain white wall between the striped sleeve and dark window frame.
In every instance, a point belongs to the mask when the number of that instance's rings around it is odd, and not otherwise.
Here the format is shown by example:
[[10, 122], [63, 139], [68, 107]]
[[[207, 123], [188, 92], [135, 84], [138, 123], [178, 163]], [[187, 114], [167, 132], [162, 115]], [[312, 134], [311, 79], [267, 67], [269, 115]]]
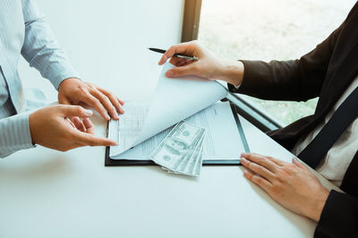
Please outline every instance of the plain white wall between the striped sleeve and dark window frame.
[[[124, 100], [138, 86], [155, 87], [160, 55], [148, 47], [166, 49], [180, 41], [183, 0], [37, 0], [60, 45], [81, 78], [109, 88]], [[56, 92], [38, 72], [21, 60], [24, 86], [38, 86], [49, 102]], [[142, 91], [142, 90], [141, 90]]]

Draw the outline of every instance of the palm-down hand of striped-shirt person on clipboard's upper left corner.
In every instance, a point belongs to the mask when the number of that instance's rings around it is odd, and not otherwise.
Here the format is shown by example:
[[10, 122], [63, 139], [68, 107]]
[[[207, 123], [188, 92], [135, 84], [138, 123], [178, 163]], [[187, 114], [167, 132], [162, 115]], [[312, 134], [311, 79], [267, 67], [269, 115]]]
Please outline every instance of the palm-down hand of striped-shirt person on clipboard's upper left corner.
[[93, 107], [105, 119], [119, 119], [118, 114], [124, 113], [121, 106], [124, 102], [115, 94], [98, 86], [81, 81], [79, 78], [67, 78], [58, 87], [58, 102], [67, 105], [76, 105], [80, 102]]

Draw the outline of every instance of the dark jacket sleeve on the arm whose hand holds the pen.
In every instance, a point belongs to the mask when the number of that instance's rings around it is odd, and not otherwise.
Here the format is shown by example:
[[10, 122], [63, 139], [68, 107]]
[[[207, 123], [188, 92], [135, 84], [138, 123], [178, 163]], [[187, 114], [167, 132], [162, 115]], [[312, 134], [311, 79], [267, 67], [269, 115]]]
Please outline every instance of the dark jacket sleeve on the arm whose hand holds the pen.
[[317, 97], [326, 78], [328, 63], [345, 22], [326, 40], [294, 61], [242, 61], [243, 84], [234, 93], [266, 100], [307, 101]]

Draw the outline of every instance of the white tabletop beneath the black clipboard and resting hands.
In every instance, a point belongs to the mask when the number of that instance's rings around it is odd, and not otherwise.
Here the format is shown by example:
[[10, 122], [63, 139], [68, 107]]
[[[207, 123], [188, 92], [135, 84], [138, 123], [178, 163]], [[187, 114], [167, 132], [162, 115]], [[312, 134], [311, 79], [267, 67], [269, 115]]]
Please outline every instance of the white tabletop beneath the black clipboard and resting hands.
[[[241, 118], [252, 152], [293, 155]], [[101, 119], [97, 132], [104, 133]], [[38, 147], [0, 162], [1, 237], [311, 237], [315, 222], [284, 209], [236, 166], [199, 179], [155, 166], [104, 166], [105, 148]], [[333, 188], [324, 181], [328, 188]]]

